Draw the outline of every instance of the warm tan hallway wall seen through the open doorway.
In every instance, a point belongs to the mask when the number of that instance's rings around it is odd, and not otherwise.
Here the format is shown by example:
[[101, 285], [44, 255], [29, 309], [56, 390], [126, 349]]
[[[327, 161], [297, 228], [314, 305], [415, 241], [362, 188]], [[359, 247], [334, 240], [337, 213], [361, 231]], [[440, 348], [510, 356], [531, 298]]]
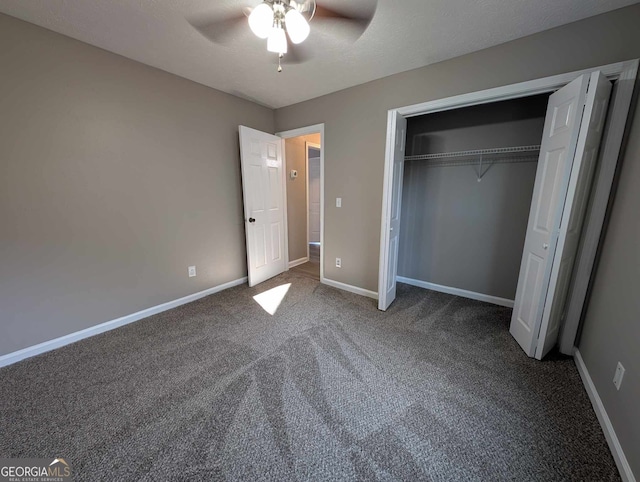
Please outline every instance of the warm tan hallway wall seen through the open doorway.
[[[305, 143], [320, 143], [320, 134], [292, 137], [285, 140], [287, 164], [287, 229], [289, 231], [289, 261], [307, 257], [307, 158]], [[291, 169], [298, 177], [291, 179]]]

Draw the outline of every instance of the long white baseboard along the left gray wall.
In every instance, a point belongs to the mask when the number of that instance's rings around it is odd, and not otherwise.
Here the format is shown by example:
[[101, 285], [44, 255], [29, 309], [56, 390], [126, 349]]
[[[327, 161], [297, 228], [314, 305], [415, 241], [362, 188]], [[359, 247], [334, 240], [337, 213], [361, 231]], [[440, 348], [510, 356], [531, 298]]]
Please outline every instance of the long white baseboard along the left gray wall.
[[246, 282], [246, 277], [240, 278], [219, 286], [214, 286], [213, 288], [209, 288], [198, 293], [194, 293], [192, 295], [185, 296], [183, 298], [179, 298], [177, 300], [168, 301], [167, 303], [162, 303], [161, 305], [157, 306], [152, 306], [151, 308], [138, 311], [137, 313], [133, 313], [131, 315], [126, 315], [115, 320], [106, 321], [104, 323], [100, 323], [99, 325], [91, 326], [89, 328], [85, 328], [84, 330], [61, 336], [60, 338], [55, 338], [53, 340], [45, 341], [37, 345], [23, 348], [22, 350], [14, 351], [13, 353], [2, 355], [0, 356], [0, 368], [19, 362], [20, 360], [24, 360], [25, 358], [30, 358], [47, 351], [55, 350], [56, 348], [69, 345], [70, 343], [82, 340], [83, 338], [98, 335], [100, 333], [104, 333], [105, 331], [113, 330], [120, 326], [128, 325], [129, 323], [133, 323], [134, 321], [141, 320], [142, 318], [147, 318], [148, 316], [162, 313], [163, 311], [167, 311], [172, 308], [191, 303], [192, 301], [199, 300], [200, 298], [204, 298], [205, 296], [218, 293], [219, 291], [226, 290], [227, 288], [232, 288], [233, 286], [238, 286]]

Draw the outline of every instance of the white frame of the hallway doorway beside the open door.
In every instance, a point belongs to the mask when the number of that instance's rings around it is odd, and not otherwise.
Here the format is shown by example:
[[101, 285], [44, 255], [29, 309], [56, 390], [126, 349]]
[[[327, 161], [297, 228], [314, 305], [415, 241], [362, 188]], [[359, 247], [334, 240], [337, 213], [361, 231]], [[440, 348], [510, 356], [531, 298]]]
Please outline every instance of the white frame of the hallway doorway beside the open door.
[[[284, 172], [286, 175], [287, 156], [284, 149], [284, 141], [293, 137], [307, 136], [309, 134], [320, 134], [320, 282], [324, 283], [324, 123], [314, 124], [311, 126], [300, 127], [287, 131], [276, 132], [276, 136], [281, 137], [282, 141], [282, 159], [284, 161]], [[305, 143], [305, 158], [307, 159], [307, 257], [309, 256], [309, 151]], [[284, 195], [287, 196], [287, 184], [284, 183]], [[289, 224], [287, 213], [285, 210], [284, 217], [285, 239], [286, 239], [286, 266], [289, 266]]]

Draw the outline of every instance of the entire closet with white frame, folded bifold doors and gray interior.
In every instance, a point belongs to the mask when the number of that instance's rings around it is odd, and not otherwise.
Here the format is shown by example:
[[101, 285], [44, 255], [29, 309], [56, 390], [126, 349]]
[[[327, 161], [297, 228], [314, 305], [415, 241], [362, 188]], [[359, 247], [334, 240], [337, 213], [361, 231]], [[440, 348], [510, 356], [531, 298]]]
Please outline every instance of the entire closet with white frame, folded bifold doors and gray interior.
[[528, 356], [572, 354], [638, 64], [391, 109], [378, 308], [397, 281], [513, 306]]

